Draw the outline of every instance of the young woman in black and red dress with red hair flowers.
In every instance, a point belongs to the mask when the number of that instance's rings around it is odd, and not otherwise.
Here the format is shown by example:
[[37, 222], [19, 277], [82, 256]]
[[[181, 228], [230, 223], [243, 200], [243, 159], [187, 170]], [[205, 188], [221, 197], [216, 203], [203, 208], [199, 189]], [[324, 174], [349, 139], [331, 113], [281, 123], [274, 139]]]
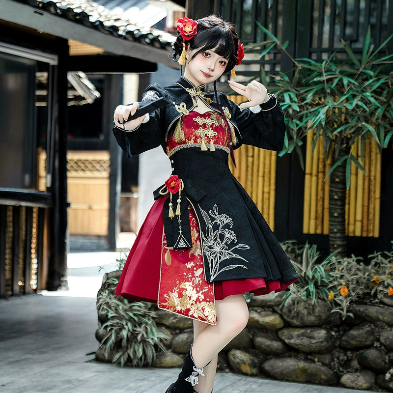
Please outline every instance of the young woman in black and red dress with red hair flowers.
[[[124, 123], [140, 103], [119, 106], [113, 133], [127, 156], [161, 145], [172, 173], [140, 228], [116, 294], [157, 303], [194, 320], [194, 343], [166, 393], [211, 393], [217, 354], [248, 322], [243, 294], [285, 289], [296, 273], [246, 191], [228, 168], [233, 149], [281, 150], [280, 104], [263, 84], [228, 81], [245, 97], [236, 105], [216, 80], [244, 56], [233, 25], [210, 15], [178, 21], [173, 58], [185, 63], [175, 84], [150, 85], [142, 103], [169, 104]], [[205, 84], [214, 92], [205, 93]]]

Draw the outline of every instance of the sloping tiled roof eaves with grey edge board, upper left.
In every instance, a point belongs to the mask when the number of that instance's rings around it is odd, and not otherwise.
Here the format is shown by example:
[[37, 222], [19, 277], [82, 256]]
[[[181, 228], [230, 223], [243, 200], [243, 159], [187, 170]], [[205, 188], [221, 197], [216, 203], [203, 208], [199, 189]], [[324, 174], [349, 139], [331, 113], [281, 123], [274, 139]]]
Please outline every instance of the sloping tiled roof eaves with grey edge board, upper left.
[[172, 34], [138, 28], [114, 15], [112, 18], [89, 15], [77, 3], [74, 0], [71, 7], [66, 1], [0, 0], [0, 19], [94, 45], [115, 55], [175, 66], [168, 56], [174, 41]]

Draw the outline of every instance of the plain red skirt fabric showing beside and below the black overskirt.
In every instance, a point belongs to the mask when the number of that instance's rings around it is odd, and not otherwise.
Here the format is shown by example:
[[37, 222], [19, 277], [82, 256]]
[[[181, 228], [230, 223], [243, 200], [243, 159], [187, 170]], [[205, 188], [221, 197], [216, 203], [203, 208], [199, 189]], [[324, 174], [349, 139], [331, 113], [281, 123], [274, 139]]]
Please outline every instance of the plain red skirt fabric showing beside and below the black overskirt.
[[[157, 303], [160, 286], [160, 267], [164, 230], [163, 204], [165, 198], [156, 200], [140, 227], [128, 255], [115, 294], [131, 301]], [[215, 300], [230, 295], [253, 292], [265, 295], [279, 292], [296, 280], [279, 282], [259, 279], [214, 281]]]

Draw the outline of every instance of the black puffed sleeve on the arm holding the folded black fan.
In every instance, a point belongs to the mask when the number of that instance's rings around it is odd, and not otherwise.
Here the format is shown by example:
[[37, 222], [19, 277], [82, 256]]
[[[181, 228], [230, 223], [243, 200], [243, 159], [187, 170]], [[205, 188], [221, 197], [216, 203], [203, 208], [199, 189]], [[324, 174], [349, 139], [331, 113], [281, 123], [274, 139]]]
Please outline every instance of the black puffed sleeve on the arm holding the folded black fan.
[[[162, 88], [158, 84], [151, 84], [144, 92], [142, 101], [154, 101], [162, 96]], [[150, 112], [149, 120], [146, 123], [140, 124], [133, 131], [126, 132], [118, 127], [113, 127], [113, 135], [127, 157], [135, 156], [164, 144], [165, 131], [160, 126], [165, 116], [164, 111], [165, 108], [160, 108], [154, 112]]]

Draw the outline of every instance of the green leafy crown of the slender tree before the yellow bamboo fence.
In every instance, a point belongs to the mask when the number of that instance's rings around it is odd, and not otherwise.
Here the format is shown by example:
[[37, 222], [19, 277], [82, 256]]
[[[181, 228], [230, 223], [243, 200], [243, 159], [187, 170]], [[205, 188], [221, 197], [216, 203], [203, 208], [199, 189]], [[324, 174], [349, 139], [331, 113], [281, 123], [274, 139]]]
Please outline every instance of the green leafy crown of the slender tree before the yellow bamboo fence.
[[[355, 142], [361, 143], [363, 160], [368, 138], [376, 141], [381, 152], [393, 135], [393, 71], [389, 71], [393, 54], [381, 55], [393, 36], [374, 48], [368, 29], [361, 58], [357, 58], [349, 45], [342, 42], [342, 47], [327, 59], [295, 60], [285, 49], [287, 43], [281, 44], [267, 29], [259, 27], [269, 39], [248, 48], [260, 47], [263, 57], [269, 56], [269, 51], [278, 47], [295, 66], [291, 70], [293, 78], [280, 73], [274, 79], [275, 85], [270, 88], [280, 96], [287, 125], [280, 155], [297, 151], [303, 166], [300, 146], [303, 137], [313, 130], [313, 148], [322, 138], [326, 157], [334, 152], [331, 171], [343, 162], [346, 164], [349, 188], [351, 162], [364, 171], [352, 151]], [[266, 83], [267, 78], [262, 72], [261, 80]], [[338, 161], [338, 152], [345, 146], [347, 153]]]

